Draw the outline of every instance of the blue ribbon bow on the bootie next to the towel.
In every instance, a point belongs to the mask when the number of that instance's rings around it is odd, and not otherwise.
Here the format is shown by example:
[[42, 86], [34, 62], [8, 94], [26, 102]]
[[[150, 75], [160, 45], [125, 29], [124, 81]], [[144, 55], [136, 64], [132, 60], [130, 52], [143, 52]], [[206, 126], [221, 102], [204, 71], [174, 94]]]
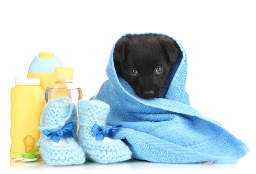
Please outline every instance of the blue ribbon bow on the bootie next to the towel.
[[122, 125], [117, 125], [111, 128], [102, 129], [96, 123], [93, 125], [92, 131], [96, 133], [96, 140], [104, 139], [104, 136], [109, 136], [112, 131], [122, 128]]

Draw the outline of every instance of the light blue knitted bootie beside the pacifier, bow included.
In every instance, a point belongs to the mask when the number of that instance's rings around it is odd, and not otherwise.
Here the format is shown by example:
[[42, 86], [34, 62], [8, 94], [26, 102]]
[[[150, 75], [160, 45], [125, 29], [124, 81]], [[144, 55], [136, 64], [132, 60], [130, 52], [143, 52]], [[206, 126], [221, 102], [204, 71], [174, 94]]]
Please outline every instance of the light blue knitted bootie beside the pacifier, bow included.
[[38, 128], [42, 131], [38, 145], [48, 165], [76, 165], [85, 161], [83, 149], [73, 138], [74, 107], [68, 98], [52, 99], [44, 107]]

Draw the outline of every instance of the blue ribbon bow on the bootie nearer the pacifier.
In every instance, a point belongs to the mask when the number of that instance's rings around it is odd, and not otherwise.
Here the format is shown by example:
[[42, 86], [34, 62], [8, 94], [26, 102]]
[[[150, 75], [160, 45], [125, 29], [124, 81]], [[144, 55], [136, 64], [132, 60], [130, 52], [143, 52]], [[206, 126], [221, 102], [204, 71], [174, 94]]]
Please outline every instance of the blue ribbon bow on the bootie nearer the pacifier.
[[59, 131], [49, 131], [47, 129], [43, 130], [44, 135], [47, 137], [52, 136], [52, 141], [59, 142], [61, 136], [64, 138], [74, 137], [72, 134], [72, 130], [74, 129], [73, 122], [68, 123]]

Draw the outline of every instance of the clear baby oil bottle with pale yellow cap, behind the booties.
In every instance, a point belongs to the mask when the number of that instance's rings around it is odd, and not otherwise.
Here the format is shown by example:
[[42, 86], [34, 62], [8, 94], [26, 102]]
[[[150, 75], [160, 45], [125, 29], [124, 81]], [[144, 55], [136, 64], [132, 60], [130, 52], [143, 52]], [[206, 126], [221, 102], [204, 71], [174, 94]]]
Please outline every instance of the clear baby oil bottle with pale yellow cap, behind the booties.
[[45, 92], [46, 102], [49, 102], [51, 99], [69, 97], [76, 104], [77, 108], [78, 101], [82, 99], [83, 94], [81, 88], [71, 81], [73, 80], [73, 68], [55, 68], [55, 79], [56, 81], [50, 84]]

